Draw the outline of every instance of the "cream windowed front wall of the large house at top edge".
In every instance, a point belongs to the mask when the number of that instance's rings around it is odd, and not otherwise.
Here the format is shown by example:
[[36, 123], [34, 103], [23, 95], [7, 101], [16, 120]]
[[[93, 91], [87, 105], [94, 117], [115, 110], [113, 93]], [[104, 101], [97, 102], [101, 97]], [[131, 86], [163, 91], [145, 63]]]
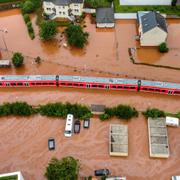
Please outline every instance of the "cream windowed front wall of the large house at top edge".
[[67, 18], [69, 16], [69, 9], [71, 13], [75, 16], [80, 16], [83, 11], [83, 3], [72, 3], [66, 6], [56, 6], [51, 2], [43, 2], [44, 12], [48, 15], [55, 13], [57, 17]]

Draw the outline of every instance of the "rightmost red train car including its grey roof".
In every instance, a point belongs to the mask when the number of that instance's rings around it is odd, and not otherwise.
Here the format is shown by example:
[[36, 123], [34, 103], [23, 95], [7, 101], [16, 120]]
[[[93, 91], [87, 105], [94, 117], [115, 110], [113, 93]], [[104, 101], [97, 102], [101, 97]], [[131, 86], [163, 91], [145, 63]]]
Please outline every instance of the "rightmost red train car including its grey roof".
[[141, 80], [140, 91], [170, 95], [180, 95], [180, 84]]

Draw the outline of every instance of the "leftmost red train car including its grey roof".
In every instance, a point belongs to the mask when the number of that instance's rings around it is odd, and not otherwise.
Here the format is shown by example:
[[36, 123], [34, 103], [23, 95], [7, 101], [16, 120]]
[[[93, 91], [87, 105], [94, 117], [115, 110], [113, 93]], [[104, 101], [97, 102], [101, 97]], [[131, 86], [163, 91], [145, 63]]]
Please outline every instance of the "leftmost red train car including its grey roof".
[[55, 75], [0, 76], [0, 87], [56, 86]]

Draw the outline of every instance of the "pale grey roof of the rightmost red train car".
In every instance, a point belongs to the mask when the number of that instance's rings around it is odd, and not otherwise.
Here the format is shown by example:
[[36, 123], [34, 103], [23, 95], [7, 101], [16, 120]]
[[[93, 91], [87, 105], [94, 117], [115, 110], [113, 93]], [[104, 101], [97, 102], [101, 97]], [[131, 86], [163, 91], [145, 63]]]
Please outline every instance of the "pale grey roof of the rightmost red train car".
[[141, 80], [141, 85], [154, 86], [154, 87], [160, 87], [160, 88], [180, 89], [180, 84], [178, 83], [161, 82], [161, 81]]

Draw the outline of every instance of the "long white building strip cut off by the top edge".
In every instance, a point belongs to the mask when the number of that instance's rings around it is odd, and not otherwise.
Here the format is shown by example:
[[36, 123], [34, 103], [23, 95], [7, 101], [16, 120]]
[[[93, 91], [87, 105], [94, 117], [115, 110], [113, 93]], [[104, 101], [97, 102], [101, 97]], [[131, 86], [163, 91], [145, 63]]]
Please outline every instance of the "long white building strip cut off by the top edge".
[[171, 0], [119, 0], [121, 5], [170, 5]]

